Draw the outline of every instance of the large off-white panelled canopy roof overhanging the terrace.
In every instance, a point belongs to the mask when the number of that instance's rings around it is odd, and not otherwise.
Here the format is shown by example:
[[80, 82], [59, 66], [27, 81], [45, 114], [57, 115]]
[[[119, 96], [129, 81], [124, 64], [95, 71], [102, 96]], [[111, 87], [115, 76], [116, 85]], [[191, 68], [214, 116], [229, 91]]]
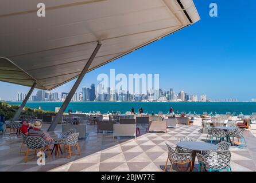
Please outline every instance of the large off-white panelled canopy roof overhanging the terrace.
[[88, 71], [199, 19], [192, 0], [2, 0], [0, 81], [52, 90], [79, 76], [97, 41]]

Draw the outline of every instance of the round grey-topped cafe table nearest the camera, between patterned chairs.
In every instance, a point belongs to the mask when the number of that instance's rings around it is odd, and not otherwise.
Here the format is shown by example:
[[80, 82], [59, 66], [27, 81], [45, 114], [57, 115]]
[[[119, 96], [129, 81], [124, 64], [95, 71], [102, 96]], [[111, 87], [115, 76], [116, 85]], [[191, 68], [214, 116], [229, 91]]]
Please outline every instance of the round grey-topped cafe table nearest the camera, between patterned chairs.
[[218, 148], [215, 144], [209, 144], [206, 142], [178, 142], [177, 146], [180, 148], [190, 149], [192, 150], [192, 166], [194, 169], [196, 153], [200, 153], [203, 151], [216, 150]]

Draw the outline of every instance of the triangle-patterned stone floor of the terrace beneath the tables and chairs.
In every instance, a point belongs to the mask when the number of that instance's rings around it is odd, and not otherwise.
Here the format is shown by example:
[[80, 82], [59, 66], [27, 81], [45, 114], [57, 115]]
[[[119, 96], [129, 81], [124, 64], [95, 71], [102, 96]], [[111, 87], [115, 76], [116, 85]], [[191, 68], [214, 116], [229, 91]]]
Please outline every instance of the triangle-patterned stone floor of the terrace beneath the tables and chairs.
[[[73, 117], [72, 117], [73, 118]], [[168, 157], [168, 144], [172, 148], [176, 148], [181, 141], [180, 139], [191, 138], [193, 142], [202, 142], [205, 147], [217, 146], [218, 141], [214, 141], [211, 144], [211, 138], [207, 133], [202, 133], [201, 118], [195, 118], [193, 125], [179, 124], [176, 121], [172, 128], [166, 128], [163, 132], [154, 132], [148, 129], [151, 128], [148, 125], [139, 125], [139, 132], [136, 130], [137, 137], [115, 137], [113, 133], [98, 131], [100, 128], [99, 121], [88, 120], [86, 122], [88, 137], [79, 138], [78, 144], [80, 149], [80, 155], [76, 148], [71, 150], [74, 156], [67, 158], [68, 148], [64, 150], [62, 146], [62, 152], [59, 151], [57, 155], [56, 148], [53, 149], [53, 145], [48, 151], [44, 151], [45, 165], [40, 166], [37, 164], [38, 157], [33, 156], [34, 151], [31, 150], [28, 156], [28, 162], [25, 162], [26, 145], [22, 147], [22, 136], [18, 134], [9, 134], [7, 132], [0, 136], [0, 171], [170, 171], [170, 161], [168, 160], [167, 166], [166, 159]], [[103, 120], [103, 122], [109, 122]], [[117, 122], [117, 124], [119, 124]], [[164, 123], [163, 121], [161, 123]], [[222, 125], [224, 126], [224, 125]], [[226, 126], [226, 125], [225, 125]], [[224, 126], [224, 127], [225, 127]], [[48, 129], [49, 124], [43, 123], [42, 129]], [[138, 127], [138, 124], [137, 124]], [[173, 128], [174, 127], [174, 128]], [[156, 128], [156, 127], [153, 127]], [[158, 127], [157, 127], [158, 128]], [[158, 129], [159, 130], [159, 129]], [[62, 125], [58, 124], [54, 132], [51, 132], [51, 137], [57, 139], [62, 132]], [[235, 138], [235, 144], [231, 140], [232, 144], [228, 150], [231, 153], [230, 168], [232, 172], [235, 171], [255, 171], [256, 165], [256, 144], [255, 144], [255, 129], [254, 125], [251, 125], [250, 129], [246, 129], [244, 132], [244, 138], [246, 144], [241, 144], [242, 140], [238, 142]], [[185, 140], [187, 141], [187, 140]], [[226, 142], [226, 138], [223, 139]], [[181, 142], [183, 143], [183, 142]], [[187, 142], [185, 142], [186, 144]], [[189, 143], [189, 142], [188, 142]], [[177, 149], [177, 148], [176, 148]], [[179, 149], [179, 148], [178, 148]], [[20, 153], [20, 150], [22, 153]], [[186, 149], [189, 152], [191, 150]], [[39, 151], [39, 150], [38, 150]], [[37, 151], [37, 152], [38, 152]], [[65, 151], [65, 152], [64, 152]], [[191, 153], [191, 152], [190, 152]], [[199, 171], [198, 156], [195, 158], [194, 172]], [[34, 159], [33, 159], [34, 158]], [[185, 160], [184, 160], [185, 162]], [[201, 171], [209, 171], [208, 168], [201, 166]], [[225, 169], [223, 171], [229, 171]], [[187, 164], [173, 164], [172, 171], [191, 171], [190, 162]]]

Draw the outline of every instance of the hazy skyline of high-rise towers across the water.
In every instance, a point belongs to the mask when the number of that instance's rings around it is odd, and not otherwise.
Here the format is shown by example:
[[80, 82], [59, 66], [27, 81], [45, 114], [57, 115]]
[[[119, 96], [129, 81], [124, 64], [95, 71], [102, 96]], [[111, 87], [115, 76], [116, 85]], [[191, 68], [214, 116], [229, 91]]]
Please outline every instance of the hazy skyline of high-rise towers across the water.
[[[212, 100], [207, 98], [207, 94], [197, 96], [195, 94], [184, 92], [175, 92], [173, 88], [169, 90], [148, 90], [146, 94], [130, 93], [129, 90], [110, 89], [104, 87], [101, 83], [98, 85], [99, 89], [95, 89], [95, 84], [92, 83], [91, 87], [82, 87], [76, 92], [71, 101], [180, 101], [180, 102], [238, 102], [238, 99], [228, 98], [225, 100]], [[29, 101], [61, 101], [63, 102], [68, 96], [67, 92], [50, 92], [38, 89], [36, 94], [29, 98]], [[17, 100], [23, 101], [26, 97], [25, 92], [17, 93]], [[251, 102], [255, 102], [251, 99]]]

